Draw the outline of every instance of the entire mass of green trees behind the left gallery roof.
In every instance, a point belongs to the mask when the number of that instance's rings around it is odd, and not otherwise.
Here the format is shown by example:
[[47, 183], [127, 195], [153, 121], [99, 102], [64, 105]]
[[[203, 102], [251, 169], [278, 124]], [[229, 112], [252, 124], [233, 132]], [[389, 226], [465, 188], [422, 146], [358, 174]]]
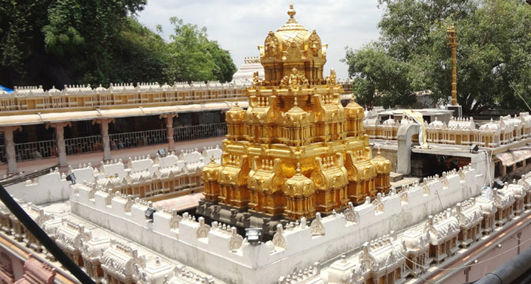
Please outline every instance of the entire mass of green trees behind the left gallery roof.
[[146, 0], [4, 2], [1, 85], [231, 81], [236, 71], [206, 28], [172, 18], [166, 40], [141, 25], [135, 14]]

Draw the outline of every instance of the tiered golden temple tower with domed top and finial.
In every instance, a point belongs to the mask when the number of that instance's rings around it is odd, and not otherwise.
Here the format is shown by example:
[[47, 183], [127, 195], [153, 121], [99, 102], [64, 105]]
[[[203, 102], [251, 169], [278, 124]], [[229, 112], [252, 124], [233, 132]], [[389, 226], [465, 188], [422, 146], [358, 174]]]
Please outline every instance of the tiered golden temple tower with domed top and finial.
[[[203, 168], [203, 204], [288, 219], [343, 209], [388, 192], [391, 163], [372, 159], [363, 108], [341, 105], [328, 45], [294, 19], [259, 46], [265, 80], [246, 90], [249, 108], [226, 113], [221, 165]], [[210, 214], [212, 215], [212, 214]]]

